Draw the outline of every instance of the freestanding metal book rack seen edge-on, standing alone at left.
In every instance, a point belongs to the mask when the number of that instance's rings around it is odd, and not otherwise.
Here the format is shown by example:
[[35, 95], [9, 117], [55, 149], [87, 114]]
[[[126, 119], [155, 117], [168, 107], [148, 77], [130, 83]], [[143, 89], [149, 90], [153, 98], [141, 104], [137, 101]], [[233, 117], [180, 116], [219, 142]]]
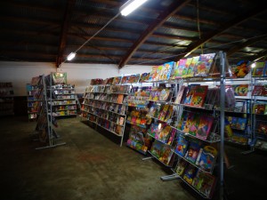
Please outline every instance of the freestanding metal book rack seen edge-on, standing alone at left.
[[[36, 85], [38, 90], [34, 94], [36, 100], [34, 104], [34, 109], [38, 112], [37, 122], [36, 122], [36, 134], [38, 140], [45, 144], [44, 148], [55, 148], [62, 145], [65, 145], [66, 142], [55, 143], [55, 139], [59, 139], [59, 135], [55, 132], [54, 128], [58, 126], [56, 119], [52, 115], [52, 108], [49, 107], [49, 101], [47, 95], [51, 90], [47, 91], [47, 83], [51, 83], [51, 76], [36, 76], [32, 78], [32, 85]], [[51, 104], [50, 104], [51, 105]]]

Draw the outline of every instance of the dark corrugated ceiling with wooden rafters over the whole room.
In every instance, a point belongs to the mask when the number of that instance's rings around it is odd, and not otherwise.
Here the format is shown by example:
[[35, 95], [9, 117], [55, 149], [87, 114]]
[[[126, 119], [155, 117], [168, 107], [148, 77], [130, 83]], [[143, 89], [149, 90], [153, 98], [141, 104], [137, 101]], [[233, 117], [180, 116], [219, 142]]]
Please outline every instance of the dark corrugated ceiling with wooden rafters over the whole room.
[[[118, 12], [125, 2], [1, 1], [0, 60], [123, 68], [218, 51], [226, 52], [230, 62], [267, 55], [262, 0], [149, 0], [124, 17]], [[67, 61], [70, 52], [77, 56]]]

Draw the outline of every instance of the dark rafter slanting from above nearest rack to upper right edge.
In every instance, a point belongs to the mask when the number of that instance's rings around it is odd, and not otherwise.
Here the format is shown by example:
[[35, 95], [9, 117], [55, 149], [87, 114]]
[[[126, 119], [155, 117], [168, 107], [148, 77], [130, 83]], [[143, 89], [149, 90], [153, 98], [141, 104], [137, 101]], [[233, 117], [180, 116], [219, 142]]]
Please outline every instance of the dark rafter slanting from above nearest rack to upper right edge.
[[187, 56], [191, 52], [194, 52], [195, 50], [197, 50], [201, 45], [206, 44], [206, 42], [210, 41], [214, 36], [218, 36], [218, 35], [222, 34], [224, 31], [228, 30], [229, 28], [232, 28], [232, 27], [242, 23], [243, 21], [246, 21], [252, 17], [255, 17], [258, 14], [266, 12], [266, 10], [267, 10], [267, 8], [265, 6], [260, 5], [260, 6], [255, 7], [254, 9], [252, 9], [250, 12], [243, 13], [242, 16], [238, 16], [238, 17], [234, 18], [233, 20], [229, 21], [228, 23], [225, 23], [221, 28], [218, 28], [216, 31], [214, 31], [210, 34], [206, 34], [201, 39], [199, 39], [197, 42], [190, 44], [189, 47], [184, 52], [185, 55], [184, 54], [180, 55], [176, 59], [177, 60], [182, 59], [184, 56]]

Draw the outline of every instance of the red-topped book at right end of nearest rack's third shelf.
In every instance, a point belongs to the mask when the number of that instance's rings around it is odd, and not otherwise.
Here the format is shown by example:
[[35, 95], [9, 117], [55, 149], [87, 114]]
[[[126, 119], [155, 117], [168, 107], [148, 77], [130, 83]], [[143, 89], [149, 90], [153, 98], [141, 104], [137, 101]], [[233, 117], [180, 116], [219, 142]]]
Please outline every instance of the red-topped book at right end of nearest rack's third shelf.
[[209, 133], [211, 132], [212, 125], [214, 123], [213, 116], [201, 115], [198, 124], [198, 131], [196, 137], [202, 140], [206, 140]]

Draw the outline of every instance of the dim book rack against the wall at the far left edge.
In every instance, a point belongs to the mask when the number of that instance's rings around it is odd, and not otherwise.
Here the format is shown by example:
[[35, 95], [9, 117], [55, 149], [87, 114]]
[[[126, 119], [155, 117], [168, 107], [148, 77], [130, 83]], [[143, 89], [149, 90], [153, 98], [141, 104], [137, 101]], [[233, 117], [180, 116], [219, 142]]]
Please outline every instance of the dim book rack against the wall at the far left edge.
[[0, 83], [0, 116], [14, 115], [13, 87], [11, 82]]

